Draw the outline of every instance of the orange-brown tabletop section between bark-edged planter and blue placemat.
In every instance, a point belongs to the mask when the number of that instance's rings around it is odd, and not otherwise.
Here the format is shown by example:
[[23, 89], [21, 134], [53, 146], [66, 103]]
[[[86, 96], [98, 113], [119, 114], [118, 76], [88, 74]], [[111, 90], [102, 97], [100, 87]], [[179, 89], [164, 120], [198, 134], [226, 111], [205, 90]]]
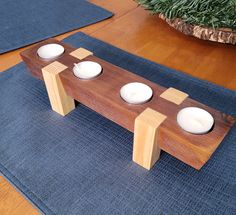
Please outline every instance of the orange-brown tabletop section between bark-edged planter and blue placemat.
[[235, 45], [186, 36], [141, 7], [90, 35], [159, 64], [236, 90]]

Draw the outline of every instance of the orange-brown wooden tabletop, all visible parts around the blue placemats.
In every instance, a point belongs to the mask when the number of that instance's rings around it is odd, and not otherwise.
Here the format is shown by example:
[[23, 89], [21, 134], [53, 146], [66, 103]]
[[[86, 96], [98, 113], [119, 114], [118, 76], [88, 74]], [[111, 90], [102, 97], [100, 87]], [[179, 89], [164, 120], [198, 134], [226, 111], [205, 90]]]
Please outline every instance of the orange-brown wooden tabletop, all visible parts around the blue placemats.
[[[100, 23], [57, 36], [57, 39], [82, 31], [138, 56], [236, 90], [236, 46], [185, 36], [157, 16], [149, 15], [137, 7], [133, 0], [90, 1], [115, 15]], [[0, 55], [0, 72], [19, 63], [19, 53], [25, 48]], [[0, 214], [38, 212], [0, 176]]]

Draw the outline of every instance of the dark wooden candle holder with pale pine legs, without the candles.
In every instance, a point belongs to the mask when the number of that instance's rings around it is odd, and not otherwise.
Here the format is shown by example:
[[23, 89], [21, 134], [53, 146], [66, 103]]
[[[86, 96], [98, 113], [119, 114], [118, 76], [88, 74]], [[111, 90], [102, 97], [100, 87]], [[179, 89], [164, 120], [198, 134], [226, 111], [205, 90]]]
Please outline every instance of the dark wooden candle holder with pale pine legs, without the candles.
[[[37, 55], [40, 46], [58, 43], [65, 53], [51, 61]], [[174, 88], [166, 89], [127, 70], [104, 61], [83, 48], [74, 48], [55, 39], [39, 43], [21, 53], [31, 73], [44, 80], [52, 109], [66, 115], [75, 108], [74, 99], [104, 117], [134, 132], [133, 161], [150, 169], [164, 150], [190, 166], [200, 169], [219, 146], [235, 119], [188, 97]], [[73, 64], [95, 61], [102, 74], [92, 80], [74, 76]], [[120, 88], [130, 82], [141, 82], [153, 90], [152, 99], [142, 105], [130, 105], [120, 97]], [[213, 129], [204, 135], [184, 131], [176, 121], [185, 107], [203, 108], [215, 119]], [[232, 120], [229, 120], [232, 119]]]

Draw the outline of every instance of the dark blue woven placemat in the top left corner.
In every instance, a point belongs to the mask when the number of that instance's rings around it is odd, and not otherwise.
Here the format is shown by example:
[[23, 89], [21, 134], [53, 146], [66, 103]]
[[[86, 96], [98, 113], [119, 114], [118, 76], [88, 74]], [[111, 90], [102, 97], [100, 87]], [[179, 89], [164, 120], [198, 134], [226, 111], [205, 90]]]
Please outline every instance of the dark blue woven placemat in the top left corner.
[[111, 16], [85, 0], [1, 0], [0, 54]]

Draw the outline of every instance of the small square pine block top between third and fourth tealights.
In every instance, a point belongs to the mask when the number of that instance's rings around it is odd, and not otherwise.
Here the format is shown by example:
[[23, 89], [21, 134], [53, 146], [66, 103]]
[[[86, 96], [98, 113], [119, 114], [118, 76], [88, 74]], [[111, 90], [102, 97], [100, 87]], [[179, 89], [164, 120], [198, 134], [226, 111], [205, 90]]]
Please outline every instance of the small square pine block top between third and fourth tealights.
[[180, 105], [188, 97], [188, 94], [170, 87], [166, 91], [164, 91], [160, 95], [160, 97], [177, 105]]

